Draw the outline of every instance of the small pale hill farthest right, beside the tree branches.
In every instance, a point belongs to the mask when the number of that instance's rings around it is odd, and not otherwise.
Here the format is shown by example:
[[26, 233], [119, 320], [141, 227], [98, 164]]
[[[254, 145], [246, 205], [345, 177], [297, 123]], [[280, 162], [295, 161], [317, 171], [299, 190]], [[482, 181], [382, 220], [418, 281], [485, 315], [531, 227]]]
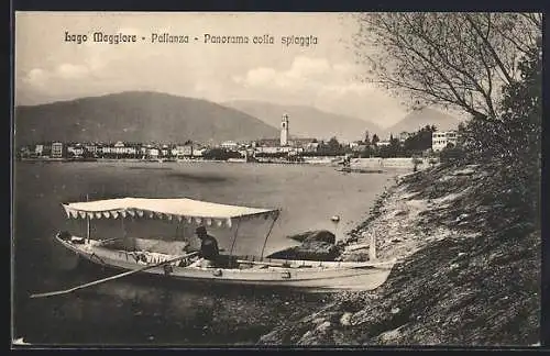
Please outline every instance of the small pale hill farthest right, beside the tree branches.
[[388, 136], [389, 133], [393, 133], [395, 135], [404, 131], [411, 133], [426, 125], [436, 125], [438, 131], [457, 130], [459, 124], [459, 119], [454, 116], [435, 109], [424, 108], [408, 113], [399, 122], [387, 127], [385, 130], [385, 135]]

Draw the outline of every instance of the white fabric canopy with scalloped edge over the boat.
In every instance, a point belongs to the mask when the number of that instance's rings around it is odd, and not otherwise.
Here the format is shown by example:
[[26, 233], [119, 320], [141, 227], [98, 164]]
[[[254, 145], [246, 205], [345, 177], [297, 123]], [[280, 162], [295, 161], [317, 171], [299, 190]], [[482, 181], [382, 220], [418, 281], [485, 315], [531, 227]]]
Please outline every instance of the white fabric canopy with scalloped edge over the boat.
[[118, 198], [63, 204], [68, 218], [177, 219], [197, 225], [231, 227], [234, 221], [263, 218], [277, 219], [278, 209], [260, 209], [193, 200], [187, 198]]

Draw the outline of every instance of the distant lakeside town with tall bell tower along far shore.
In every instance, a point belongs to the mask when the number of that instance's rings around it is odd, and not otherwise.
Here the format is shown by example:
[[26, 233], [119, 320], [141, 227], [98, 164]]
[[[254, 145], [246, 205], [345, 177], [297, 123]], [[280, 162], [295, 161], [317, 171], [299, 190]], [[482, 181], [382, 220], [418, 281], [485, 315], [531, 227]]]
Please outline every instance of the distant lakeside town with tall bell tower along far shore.
[[300, 138], [289, 135], [289, 118], [283, 115], [280, 137], [246, 142], [226, 141], [204, 144], [190, 140], [183, 143], [136, 142], [40, 142], [18, 147], [16, 158], [22, 160], [238, 160], [238, 162], [305, 162], [312, 157], [397, 158], [430, 157], [457, 146], [458, 132], [439, 132], [427, 125], [417, 132], [402, 132], [380, 140], [365, 132], [363, 140], [340, 143], [337, 137], [328, 141]]

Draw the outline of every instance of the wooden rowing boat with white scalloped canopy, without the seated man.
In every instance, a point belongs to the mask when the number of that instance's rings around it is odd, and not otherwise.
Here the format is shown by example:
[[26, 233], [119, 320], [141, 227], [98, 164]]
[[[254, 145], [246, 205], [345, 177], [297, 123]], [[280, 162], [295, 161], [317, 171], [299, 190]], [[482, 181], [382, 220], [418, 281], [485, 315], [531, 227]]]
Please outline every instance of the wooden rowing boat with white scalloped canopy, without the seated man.
[[[67, 232], [55, 236], [55, 241], [67, 249], [106, 267], [183, 281], [289, 287], [311, 291], [371, 290], [386, 280], [395, 264], [395, 260], [350, 263], [264, 258], [267, 238], [279, 216], [278, 209], [227, 205], [186, 198], [122, 198], [67, 203], [63, 207], [67, 216], [86, 219], [88, 222], [86, 237], [75, 236]], [[138, 218], [228, 229], [231, 231], [232, 241], [227, 241], [220, 246], [228, 246], [229, 254], [220, 255], [220, 260], [215, 266], [204, 267], [193, 264], [191, 257], [178, 256], [182, 255], [180, 252], [170, 254], [147, 251], [144, 246], [152, 245], [154, 240], [135, 238], [136, 244], [133, 251], [129, 251], [121, 247], [120, 241], [123, 237], [90, 238], [91, 220]], [[263, 237], [262, 249], [257, 256], [239, 255], [235, 248], [239, 225], [253, 220], [267, 221], [267, 233]]]

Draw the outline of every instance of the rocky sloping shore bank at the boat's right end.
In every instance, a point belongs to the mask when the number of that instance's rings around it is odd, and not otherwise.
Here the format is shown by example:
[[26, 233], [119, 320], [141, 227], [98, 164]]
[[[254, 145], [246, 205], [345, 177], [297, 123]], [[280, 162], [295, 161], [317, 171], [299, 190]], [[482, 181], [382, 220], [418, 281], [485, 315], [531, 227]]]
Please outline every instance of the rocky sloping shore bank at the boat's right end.
[[540, 226], [507, 201], [498, 170], [439, 166], [396, 177], [339, 246], [340, 259], [364, 260], [375, 234], [377, 258], [398, 258], [386, 282], [334, 293], [258, 344], [537, 345]]

